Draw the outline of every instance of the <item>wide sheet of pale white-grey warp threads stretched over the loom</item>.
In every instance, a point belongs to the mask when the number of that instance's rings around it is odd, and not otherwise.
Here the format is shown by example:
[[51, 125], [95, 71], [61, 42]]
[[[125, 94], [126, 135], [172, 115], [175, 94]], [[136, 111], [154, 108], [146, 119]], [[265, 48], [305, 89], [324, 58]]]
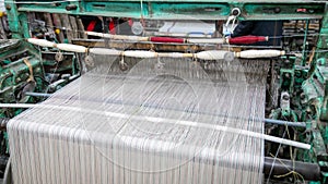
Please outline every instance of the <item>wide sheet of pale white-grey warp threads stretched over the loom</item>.
[[263, 140], [213, 126], [263, 132], [268, 66], [236, 61], [204, 73], [187, 60], [160, 62], [160, 71], [145, 60], [127, 75], [86, 73], [40, 105], [73, 110], [12, 119], [14, 183], [260, 183]]

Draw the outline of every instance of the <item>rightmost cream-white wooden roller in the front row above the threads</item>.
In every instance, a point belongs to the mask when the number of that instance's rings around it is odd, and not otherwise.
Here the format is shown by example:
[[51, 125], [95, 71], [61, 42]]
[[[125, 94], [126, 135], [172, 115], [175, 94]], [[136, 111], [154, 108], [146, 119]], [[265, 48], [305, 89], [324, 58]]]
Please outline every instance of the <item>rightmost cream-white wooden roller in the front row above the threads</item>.
[[247, 59], [254, 59], [254, 58], [272, 58], [272, 57], [279, 57], [284, 56], [285, 51], [283, 50], [245, 50], [241, 52], [235, 52], [235, 57], [237, 58], [247, 58]]

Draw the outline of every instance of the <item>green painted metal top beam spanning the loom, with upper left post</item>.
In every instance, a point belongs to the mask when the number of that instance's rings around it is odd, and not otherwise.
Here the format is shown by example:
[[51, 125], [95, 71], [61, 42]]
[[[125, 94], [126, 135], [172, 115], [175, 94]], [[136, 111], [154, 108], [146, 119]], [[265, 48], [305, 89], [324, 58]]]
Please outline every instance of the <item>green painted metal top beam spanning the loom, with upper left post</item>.
[[[31, 2], [31, 1], [30, 1]], [[28, 37], [24, 12], [66, 13], [73, 15], [119, 16], [151, 20], [226, 20], [233, 8], [239, 8], [241, 20], [309, 20], [323, 19], [327, 1], [316, 0], [80, 0], [51, 3], [49, 0], [24, 3], [5, 1], [10, 28], [15, 38]], [[38, 3], [49, 2], [49, 3]], [[75, 9], [67, 10], [68, 5]], [[306, 9], [306, 12], [297, 12]]]

